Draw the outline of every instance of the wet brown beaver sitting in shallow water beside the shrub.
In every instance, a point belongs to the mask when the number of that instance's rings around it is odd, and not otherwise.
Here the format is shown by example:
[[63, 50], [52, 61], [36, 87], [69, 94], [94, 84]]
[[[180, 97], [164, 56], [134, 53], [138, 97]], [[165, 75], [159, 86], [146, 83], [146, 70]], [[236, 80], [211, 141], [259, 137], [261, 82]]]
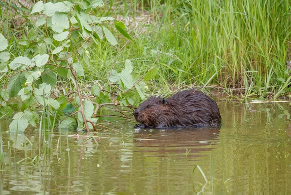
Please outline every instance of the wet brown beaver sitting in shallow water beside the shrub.
[[205, 93], [191, 89], [179, 91], [169, 98], [151, 96], [140, 104], [133, 115], [136, 128], [218, 126], [221, 116], [218, 106]]

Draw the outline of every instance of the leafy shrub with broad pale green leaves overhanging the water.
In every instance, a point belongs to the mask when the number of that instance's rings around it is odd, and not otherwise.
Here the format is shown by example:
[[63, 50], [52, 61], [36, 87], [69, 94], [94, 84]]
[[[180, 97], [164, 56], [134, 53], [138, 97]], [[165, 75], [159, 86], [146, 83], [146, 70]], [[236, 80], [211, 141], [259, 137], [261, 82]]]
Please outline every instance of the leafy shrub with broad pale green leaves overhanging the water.
[[[8, 41], [0, 34], [0, 116], [11, 115], [12, 107], [7, 101], [20, 96], [23, 104], [9, 126], [11, 132], [23, 132], [28, 124], [36, 127], [39, 121], [37, 108], [42, 107], [42, 117], [50, 118], [48, 127], [93, 129], [97, 112], [105, 105], [136, 105], [146, 97], [146, 85], [157, 74], [150, 70], [145, 76], [134, 75], [130, 60], [117, 73], [112, 70], [110, 80], [91, 88], [92, 94], [84, 94], [78, 78], [84, 76], [83, 65], [90, 64], [89, 46], [101, 44], [105, 38], [117, 45], [111, 24], [129, 40], [126, 26], [113, 17], [91, 15], [93, 9], [103, 6], [102, 0], [63, 1], [43, 3], [38, 1], [32, 8], [37, 15], [35, 27], [17, 43], [22, 53], [8, 51]], [[32, 21], [31, 21], [32, 22]], [[59, 94], [57, 76], [64, 77], [75, 91]], [[71, 95], [76, 95], [74, 100]], [[115, 97], [111, 98], [110, 95]], [[94, 96], [95, 99], [91, 97]], [[83, 100], [85, 98], [85, 100]], [[45, 113], [44, 113], [45, 112]]]

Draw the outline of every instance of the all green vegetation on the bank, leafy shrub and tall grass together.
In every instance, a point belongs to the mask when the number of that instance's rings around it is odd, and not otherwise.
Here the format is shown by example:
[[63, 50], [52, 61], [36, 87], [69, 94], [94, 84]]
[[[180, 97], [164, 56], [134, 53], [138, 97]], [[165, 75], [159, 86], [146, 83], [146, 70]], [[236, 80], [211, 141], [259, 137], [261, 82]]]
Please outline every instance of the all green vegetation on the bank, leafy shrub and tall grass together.
[[11, 131], [36, 126], [40, 107], [49, 129], [89, 131], [100, 109], [187, 87], [291, 95], [289, 0], [21, 3], [0, 2], [1, 116], [23, 101]]

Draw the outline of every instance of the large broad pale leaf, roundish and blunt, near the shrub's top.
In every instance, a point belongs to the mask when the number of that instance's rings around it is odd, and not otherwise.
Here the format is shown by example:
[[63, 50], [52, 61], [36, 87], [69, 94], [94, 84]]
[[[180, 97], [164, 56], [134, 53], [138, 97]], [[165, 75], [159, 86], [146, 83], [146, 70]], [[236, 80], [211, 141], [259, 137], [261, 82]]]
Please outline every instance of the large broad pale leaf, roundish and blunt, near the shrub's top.
[[67, 15], [59, 12], [56, 12], [51, 17], [51, 22], [51, 28], [55, 32], [63, 32], [64, 29], [68, 29], [70, 27]]

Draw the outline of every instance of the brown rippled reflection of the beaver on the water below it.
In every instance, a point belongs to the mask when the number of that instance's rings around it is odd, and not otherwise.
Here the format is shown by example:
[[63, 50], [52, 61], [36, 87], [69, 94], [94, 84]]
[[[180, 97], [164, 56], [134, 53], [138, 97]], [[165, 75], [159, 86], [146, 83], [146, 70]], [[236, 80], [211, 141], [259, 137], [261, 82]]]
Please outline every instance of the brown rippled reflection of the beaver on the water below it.
[[[135, 147], [145, 147], [141, 152], [153, 153], [185, 153], [188, 156], [201, 151], [212, 150], [213, 145], [217, 144], [220, 127], [194, 127], [180, 129], [141, 129], [134, 135]], [[211, 145], [211, 146], [210, 146]], [[162, 155], [163, 156], [163, 155]]]

